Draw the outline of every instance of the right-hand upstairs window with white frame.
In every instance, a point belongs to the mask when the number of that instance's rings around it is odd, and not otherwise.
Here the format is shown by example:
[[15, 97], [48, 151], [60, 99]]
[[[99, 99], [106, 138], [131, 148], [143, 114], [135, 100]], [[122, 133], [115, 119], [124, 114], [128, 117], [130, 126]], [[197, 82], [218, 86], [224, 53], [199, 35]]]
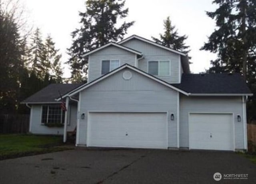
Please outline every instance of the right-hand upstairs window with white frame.
[[148, 61], [148, 73], [151, 75], [170, 75], [170, 61]]

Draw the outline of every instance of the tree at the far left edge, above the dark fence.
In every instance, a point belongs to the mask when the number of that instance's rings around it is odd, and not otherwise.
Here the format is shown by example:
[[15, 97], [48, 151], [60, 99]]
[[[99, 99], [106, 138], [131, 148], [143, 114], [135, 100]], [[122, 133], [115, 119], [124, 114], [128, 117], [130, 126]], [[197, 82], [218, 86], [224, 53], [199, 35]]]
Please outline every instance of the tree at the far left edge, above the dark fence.
[[15, 10], [6, 8], [0, 1], [0, 113], [12, 113], [17, 109], [23, 39]]

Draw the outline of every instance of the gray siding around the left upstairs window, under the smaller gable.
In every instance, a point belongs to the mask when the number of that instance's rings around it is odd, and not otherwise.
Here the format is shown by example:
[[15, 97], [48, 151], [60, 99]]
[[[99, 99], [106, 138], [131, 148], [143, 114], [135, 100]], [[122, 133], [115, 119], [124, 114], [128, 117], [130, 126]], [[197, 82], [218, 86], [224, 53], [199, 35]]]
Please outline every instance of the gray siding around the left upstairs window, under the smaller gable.
[[106, 47], [89, 57], [89, 74], [88, 82], [101, 76], [102, 60], [120, 60], [120, 66], [124, 64], [135, 65], [136, 54], [120, 49], [118, 47]]

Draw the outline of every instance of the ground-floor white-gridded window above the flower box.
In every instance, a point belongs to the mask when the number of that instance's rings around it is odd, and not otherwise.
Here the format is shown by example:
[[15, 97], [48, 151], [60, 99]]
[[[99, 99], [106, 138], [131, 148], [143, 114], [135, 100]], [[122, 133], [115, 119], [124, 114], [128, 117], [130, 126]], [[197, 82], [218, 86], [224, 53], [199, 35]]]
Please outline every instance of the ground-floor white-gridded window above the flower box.
[[41, 123], [46, 124], [64, 124], [65, 112], [62, 110], [60, 105], [48, 105], [42, 106], [42, 121]]

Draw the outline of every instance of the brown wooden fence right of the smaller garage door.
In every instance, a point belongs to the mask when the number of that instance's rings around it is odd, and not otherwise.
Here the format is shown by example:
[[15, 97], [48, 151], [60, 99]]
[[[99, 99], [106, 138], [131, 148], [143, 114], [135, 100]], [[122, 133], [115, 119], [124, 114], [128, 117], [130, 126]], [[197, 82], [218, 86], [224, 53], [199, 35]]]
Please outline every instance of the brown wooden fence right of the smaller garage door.
[[247, 124], [248, 151], [256, 152], [256, 124]]

